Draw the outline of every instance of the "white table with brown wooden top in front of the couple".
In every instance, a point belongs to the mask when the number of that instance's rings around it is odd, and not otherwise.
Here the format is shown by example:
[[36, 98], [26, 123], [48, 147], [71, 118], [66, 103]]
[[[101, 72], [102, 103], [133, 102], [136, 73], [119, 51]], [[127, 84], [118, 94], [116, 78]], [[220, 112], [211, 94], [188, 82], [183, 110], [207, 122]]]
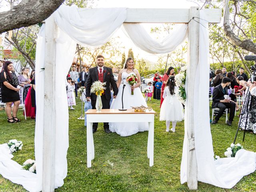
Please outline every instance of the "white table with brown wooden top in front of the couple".
[[134, 109], [120, 111], [118, 109], [89, 109], [85, 114], [87, 118], [87, 167], [92, 166], [94, 159], [94, 142], [92, 134], [92, 123], [96, 122], [148, 122], [148, 149], [149, 166], [154, 164], [154, 112], [134, 112]]

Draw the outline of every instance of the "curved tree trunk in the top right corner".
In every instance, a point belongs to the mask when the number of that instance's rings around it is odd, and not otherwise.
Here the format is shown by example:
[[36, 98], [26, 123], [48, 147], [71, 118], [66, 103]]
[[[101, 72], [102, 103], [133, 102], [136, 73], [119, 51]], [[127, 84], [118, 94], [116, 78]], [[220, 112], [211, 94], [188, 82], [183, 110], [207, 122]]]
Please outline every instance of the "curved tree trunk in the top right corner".
[[241, 40], [236, 34], [233, 32], [232, 28], [230, 27], [229, 22], [229, 0], [224, 0], [224, 32], [227, 38], [236, 46], [241, 47], [244, 50], [250, 51], [256, 54], [256, 44], [252, 42], [250, 39]]

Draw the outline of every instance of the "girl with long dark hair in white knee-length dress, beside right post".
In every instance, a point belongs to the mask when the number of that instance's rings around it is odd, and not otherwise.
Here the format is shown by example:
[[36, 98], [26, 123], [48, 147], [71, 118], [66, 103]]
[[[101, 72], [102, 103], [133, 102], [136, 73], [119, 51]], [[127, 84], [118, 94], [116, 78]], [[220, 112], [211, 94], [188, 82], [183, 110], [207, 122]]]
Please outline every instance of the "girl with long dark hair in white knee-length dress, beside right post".
[[164, 88], [164, 101], [160, 109], [160, 121], [166, 121], [166, 132], [169, 132], [170, 122], [172, 122], [171, 131], [175, 132], [176, 122], [184, 119], [182, 103], [175, 96], [177, 91], [174, 76], [170, 76]]

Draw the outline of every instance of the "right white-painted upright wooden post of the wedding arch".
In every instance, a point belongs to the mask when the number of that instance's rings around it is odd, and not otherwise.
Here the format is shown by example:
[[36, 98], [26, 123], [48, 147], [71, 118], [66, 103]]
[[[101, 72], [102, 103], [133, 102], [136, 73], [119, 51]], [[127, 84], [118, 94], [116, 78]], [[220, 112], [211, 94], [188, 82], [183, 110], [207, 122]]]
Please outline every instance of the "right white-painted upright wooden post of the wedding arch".
[[[191, 7], [189, 10], [189, 20], [199, 22], [199, 8]], [[187, 69], [187, 108], [188, 110], [188, 188], [197, 190], [197, 162], [194, 135], [194, 85], [196, 80], [196, 67], [199, 60], [199, 23], [190, 20], [188, 23], [188, 69]], [[186, 133], [185, 133], [186, 134]]]

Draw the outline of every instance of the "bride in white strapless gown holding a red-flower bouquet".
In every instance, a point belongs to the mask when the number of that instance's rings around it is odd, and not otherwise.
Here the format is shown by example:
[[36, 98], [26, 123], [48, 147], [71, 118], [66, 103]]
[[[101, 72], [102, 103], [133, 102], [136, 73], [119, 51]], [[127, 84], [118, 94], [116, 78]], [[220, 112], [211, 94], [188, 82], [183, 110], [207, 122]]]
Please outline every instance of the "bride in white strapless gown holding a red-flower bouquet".
[[[123, 85], [121, 84], [123, 79], [126, 79], [129, 75], [135, 74], [137, 76], [137, 84], [130, 86], [126, 83], [124, 87], [124, 108], [130, 109], [131, 106], [147, 106], [146, 101], [140, 91], [140, 74], [138, 70], [134, 69], [134, 60], [129, 57], [124, 65], [124, 68], [120, 70], [118, 74], [117, 87], [118, 95], [113, 99], [110, 109], [120, 109], [122, 108], [122, 90]], [[131, 94], [132, 89], [134, 94]], [[130, 136], [136, 134], [137, 132], [147, 131], [148, 123], [146, 122], [129, 122], [129, 123], [109, 123], [109, 129], [111, 132], [116, 132], [120, 136]]]

